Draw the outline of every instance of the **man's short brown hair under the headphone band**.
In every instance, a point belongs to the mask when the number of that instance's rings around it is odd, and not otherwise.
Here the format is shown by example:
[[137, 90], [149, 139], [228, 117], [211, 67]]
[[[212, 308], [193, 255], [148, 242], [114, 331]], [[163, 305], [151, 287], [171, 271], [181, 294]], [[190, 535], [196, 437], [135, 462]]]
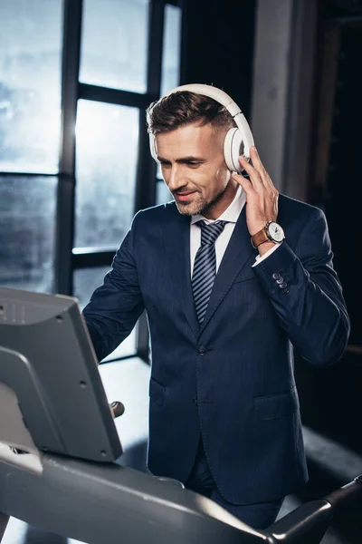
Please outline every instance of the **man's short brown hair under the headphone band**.
[[215, 130], [233, 128], [233, 117], [226, 108], [204, 94], [177, 91], [152, 102], [146, 111], [148, 132], [174, 131], [179, 127], [199, 123], [211, 124]]

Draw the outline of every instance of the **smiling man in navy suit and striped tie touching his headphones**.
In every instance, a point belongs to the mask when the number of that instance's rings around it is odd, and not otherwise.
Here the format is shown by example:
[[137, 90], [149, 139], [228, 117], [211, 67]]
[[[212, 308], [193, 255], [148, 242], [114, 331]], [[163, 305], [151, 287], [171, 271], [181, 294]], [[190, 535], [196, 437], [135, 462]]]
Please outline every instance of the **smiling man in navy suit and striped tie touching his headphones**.
[[255, 148], [248, 177], [229, 170], [233, 124], [195, 92], [151, 104], [175, 202], [138, 212], [84, 316], [102, 359], [146, 308], [150, 471], [265, 528], [308, 479], [293, 347], [330, 364], [349, 321], [324, 214], [279, 195]]

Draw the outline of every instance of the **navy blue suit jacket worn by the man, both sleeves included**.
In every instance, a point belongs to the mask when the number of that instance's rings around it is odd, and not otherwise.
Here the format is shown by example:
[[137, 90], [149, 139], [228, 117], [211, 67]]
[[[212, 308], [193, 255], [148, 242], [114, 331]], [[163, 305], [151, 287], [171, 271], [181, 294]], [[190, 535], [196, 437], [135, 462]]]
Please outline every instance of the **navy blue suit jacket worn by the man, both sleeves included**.
[[174, 202], [142, 210], [83, 311], [102, 359], [146, 308], [148, 467], [186, 481], [201, 433], [218, 489], [233, 503], [273, 500], [307, 481], [292, 346], [323, 366], [348, 341], [324, 214], [281, 195], [278, 222], [286, 239], [252, 267], [243, 208], [200, 327], [190, 218]]

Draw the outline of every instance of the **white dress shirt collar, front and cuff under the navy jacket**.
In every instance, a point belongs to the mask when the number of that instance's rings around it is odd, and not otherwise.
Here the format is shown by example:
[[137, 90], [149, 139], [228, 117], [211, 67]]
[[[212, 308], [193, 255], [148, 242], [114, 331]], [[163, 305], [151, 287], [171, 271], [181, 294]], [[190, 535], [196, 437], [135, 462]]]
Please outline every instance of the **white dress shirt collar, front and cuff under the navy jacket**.
[[[197, 214], [191, 216], [190, 223], [190, 260], [191, 260], [191, 277], [194, 270], [195, 256], [197, 249], [201, 246], [201, 228], [198, 225], [195, 225], [197, 221], [203, 219], [207, 224], [214, 223], [215, 221], [228, 221], [224, 226], [223, 232], [220, 234], [215, 241], [215, 253], [216, 253], [216, 273], [220, 267], [220, 263], [224, 257], [224, 252], [227, 248], [227, 245], [230, 241], [230, 238], [233, 234], [233, 229], [235, 228], [235, 223], [239, 219], [239, 215], [245, 205], [246, 197], [243, 187], [239, 185], [236, 194], [233, 198], [233, 202], [228, 208], [224, 210], [224, 213], [217, 219], [206, 219], [203, 215]], [[276, 248], [279, 248], [281, 244], [275, 244], [275, 246], [269, 251], [267, 251], [262, 257], [258, 255], [256, 257], [256, 262], [252, 265], [259, 264], [264, 258], [269, 257]]]

